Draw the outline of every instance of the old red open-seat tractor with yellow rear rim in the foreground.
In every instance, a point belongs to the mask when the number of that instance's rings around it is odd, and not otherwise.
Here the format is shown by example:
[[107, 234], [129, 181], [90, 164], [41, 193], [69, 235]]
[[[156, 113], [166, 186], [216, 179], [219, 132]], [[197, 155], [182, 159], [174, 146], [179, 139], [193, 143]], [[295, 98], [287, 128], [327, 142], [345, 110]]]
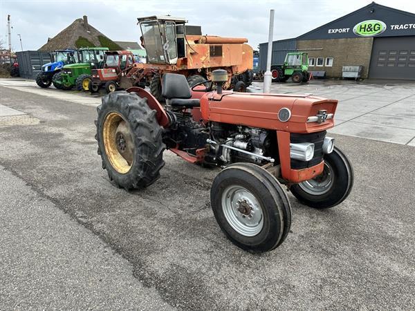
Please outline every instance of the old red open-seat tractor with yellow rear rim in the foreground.
[[227, 71], [214, 70], [208, 86], [191, 90], [184, 75], [166, 73], [165, 108], [142, 88], [110, 93], [97, 108], [98, 154], [109, 179], [127, 190], [159, 178], [165, 149], [221, 167], [210, 191], [219, 226], [242, 249], [267, 252], [291, 226], [282, 185], [317, 209], [349, 196], [353, 169], [326, 135], [338, 102], [222, 91], [226, 82]]

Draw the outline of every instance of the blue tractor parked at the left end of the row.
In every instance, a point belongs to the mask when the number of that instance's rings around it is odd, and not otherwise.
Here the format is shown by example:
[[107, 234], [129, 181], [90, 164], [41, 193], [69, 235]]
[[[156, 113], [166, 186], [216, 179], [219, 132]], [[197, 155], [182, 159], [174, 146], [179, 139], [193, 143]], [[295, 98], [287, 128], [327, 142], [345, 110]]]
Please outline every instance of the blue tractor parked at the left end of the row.
[[55, 50], [50, 53], [50, 63], [42, 66], [42, 71], [36, 76], [36, 83], [41, 88], [48, 88], [53, 82], [53, 76], [62, 71], [64, 65], [78, 62], [77, 50]]

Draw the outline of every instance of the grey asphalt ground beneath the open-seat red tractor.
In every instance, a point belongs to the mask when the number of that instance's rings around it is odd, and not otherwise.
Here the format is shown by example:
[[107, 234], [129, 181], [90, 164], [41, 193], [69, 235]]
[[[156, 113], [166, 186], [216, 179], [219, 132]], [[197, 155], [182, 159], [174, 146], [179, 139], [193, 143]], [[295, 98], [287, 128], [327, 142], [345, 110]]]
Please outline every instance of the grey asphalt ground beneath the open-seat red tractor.
[[415, 308], [414, 147], [334, 134], [355, 171], [349, 198], [321, 211], [289, 194], [288, 238], [252, 255], [214, 220], [217, 169], [167, 151], [154, 185], [118, 189], [92, 103], [0, 94], [39, 120], [0, 124], [0, 308]]

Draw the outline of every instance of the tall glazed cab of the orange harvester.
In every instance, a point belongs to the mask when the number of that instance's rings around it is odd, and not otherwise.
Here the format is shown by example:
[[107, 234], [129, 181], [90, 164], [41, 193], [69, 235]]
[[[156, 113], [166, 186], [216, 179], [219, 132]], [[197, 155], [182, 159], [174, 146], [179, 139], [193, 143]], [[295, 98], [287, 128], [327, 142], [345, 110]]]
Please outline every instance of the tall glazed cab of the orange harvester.
[[171, 16], [138, 18], [149, 63], [174, 65], [185, 55], [186, 22]]

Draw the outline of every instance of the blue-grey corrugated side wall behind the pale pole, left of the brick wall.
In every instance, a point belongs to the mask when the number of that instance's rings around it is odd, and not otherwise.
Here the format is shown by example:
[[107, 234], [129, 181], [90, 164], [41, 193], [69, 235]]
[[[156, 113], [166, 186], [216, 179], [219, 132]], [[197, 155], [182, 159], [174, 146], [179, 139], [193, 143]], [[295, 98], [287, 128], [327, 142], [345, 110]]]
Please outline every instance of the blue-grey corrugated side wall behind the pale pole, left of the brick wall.
[[[296, 39], [273, 41], [273, 57], [271, 64], [282, 64], [288, 52], [296, 52]], [[259, 44], [259, 68], [266, 70], [266, 57], [268, 55], [268, 43]]]

